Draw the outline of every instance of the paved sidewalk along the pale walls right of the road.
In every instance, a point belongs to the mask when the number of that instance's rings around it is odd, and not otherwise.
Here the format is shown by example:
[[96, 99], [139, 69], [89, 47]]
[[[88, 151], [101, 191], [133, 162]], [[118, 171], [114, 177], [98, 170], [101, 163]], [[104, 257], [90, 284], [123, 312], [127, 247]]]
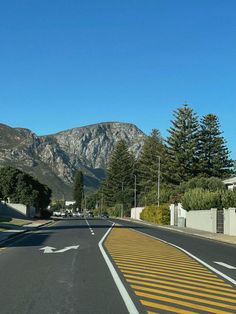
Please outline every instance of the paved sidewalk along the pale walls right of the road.
[[135, 220], [135, 219], [131, 219], [131, 218], [123, 218], [123, 219], [127, 220], [127, 221], [132, 221], [135, 223], [141, 223], [141, 224], [144, 224], [147, 226], [152, 226], [155, 228], [167, 229], [167, 230], [171, 230], [174, 232], [181, 232], [181, 233], [190, 234], [190, 235], [194, 235], [194, 236], [198, 236], [198, 237], [202, 237], [202, 238], [207, 238], [207, 239], [214, 240], [214, 241], [225, 242], [225, 243], [230, 243], [230, 244], [236, 245], [236, 236], [230, 236], [230, 235], [222, 234], [222, 233], [211, 233], [211, 232], [207, 232], [207, 231], [191, 229], [191, 228], [186, 228], [186, 227], [162, 226], [162, 225], [157, 225], [154, 223], [145, 222], [142, 220]]

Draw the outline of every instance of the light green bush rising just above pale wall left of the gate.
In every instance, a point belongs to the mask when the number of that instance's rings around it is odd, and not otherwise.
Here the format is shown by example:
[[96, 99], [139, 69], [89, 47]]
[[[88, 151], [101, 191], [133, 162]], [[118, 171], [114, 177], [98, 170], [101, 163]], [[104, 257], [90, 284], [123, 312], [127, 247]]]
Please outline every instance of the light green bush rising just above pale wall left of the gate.
[[195, 188], [184, 193], [181, 203], [183, 208], [189, 210], [204, 210], [211, 208], [222, 209], [223, 191], [209, 191], [202, 188]]

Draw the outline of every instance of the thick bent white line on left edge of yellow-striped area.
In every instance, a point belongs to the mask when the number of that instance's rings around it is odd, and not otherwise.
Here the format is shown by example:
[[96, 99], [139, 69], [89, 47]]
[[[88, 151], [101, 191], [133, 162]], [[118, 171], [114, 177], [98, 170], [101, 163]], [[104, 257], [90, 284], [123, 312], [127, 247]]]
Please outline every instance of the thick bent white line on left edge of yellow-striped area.
[[127, 307], [127, 310], [130, 314], [139, 314], [138, 310], [136, 309], [136, 306], [134, 305], [133, 301], [131, 300], [127, 290], [125, 289], [125, 286], [123, 285], [119, 275], [117, 274], [114, 266], [112, 265], [112, 262], [110, 261], [109, 257], [107, 256], [102, 244], [104, 242], [104, 240], [106, 239], [107, 235], [109, 234], [109, 232], [112, 230], [113, 226], [115, 223], [113, 223], [113, 225], [111, 226], [111, 228], [105, 233], [105, 235], [103, 236], [103, 238], [100, 240], [98, 246], [99, 249], [103, 255], [103, 258], [105, 259], [105, 262], [107, 263], [107, 266], [111, 272], [111, 275], [113, 277], [113, 280], [115, 281], [115, 284], [122, 296], [122, 299]]

